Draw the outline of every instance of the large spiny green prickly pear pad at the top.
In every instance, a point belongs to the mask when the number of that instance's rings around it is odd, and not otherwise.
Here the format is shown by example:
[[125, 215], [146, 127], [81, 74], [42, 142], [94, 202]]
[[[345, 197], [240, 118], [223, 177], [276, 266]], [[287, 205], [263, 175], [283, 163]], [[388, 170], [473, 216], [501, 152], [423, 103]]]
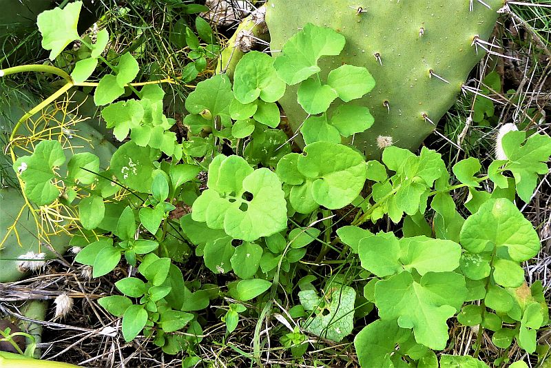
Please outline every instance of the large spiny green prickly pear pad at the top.
[[[349, 143], [378, 158], [388, 145], [416, 150], [435, 130], [484, 56], [484, 41], [503, 5], [504, 0], [307, 0], [298, 7], [295, 1], [269, 0], [266, 22], [275, 57], [306, 23], [346, 38], [340, 55], [318, 65], [322, 79], [342, 64], [364, 66], [375, 78], [371, 93], [353, 101], [368, 107], [375, 123]], [[291, 86], [280, 99], [294, 131], [306, 119], [296, 92]]]

